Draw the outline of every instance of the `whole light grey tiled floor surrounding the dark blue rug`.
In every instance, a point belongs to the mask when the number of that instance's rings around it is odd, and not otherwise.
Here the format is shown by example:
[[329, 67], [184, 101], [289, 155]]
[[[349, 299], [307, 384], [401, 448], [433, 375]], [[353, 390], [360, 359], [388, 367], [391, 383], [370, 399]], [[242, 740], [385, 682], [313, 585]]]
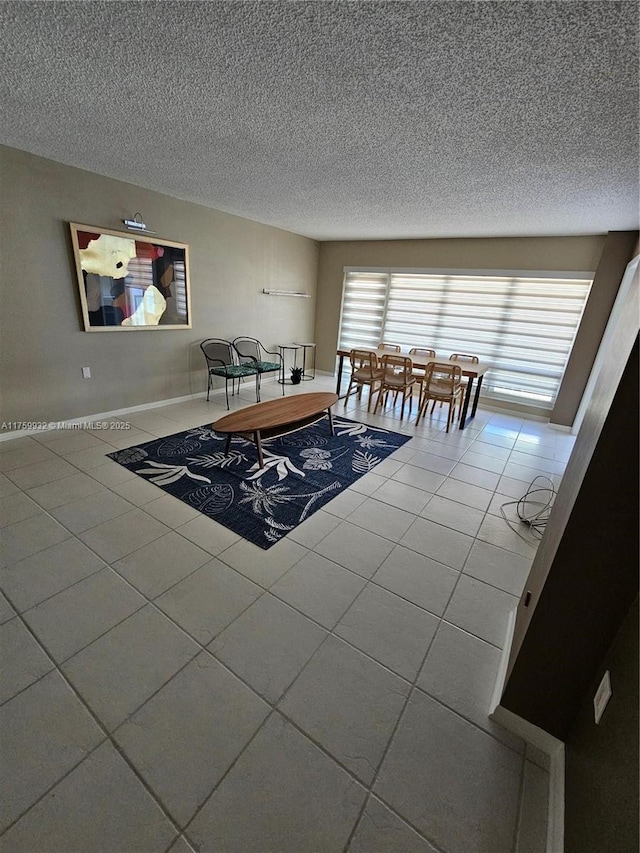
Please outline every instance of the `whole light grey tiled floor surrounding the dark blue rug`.
[[3, 853], [545, 849], [486, 715], [534, 556], [499, 507], [573, 438], [336, 411], [413, 438], [267, 552], [105, 458], [219, 396], [0, 443]]

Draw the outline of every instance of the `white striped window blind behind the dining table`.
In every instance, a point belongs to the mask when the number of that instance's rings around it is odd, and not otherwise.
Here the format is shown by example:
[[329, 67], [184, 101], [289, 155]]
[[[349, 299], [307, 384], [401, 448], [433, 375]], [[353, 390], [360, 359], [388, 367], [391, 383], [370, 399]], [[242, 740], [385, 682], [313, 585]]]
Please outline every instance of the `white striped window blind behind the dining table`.
[[491, 365], [485, 396], [550, 408], [591, 279], [552, 274], [345, 275], [340, 347], [426, 347]]

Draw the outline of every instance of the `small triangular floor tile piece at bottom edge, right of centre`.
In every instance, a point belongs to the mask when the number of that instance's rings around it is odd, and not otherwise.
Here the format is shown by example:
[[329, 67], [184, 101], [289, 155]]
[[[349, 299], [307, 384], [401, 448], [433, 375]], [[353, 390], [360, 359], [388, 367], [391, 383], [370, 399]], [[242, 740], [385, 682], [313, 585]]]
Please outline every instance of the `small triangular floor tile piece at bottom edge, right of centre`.
[[437, 853], [437, 851], [380, 800], [371, 797], [351, 839], [348, 853]]

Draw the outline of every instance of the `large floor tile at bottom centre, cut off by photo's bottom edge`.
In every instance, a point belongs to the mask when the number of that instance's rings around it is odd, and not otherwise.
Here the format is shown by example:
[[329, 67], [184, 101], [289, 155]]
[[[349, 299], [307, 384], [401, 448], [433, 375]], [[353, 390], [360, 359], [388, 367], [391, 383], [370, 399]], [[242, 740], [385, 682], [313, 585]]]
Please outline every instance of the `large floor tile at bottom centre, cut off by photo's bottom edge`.
[[364, 799], [342, 768], [273, 715], [188, 832], [201, 853], [341, 853]]

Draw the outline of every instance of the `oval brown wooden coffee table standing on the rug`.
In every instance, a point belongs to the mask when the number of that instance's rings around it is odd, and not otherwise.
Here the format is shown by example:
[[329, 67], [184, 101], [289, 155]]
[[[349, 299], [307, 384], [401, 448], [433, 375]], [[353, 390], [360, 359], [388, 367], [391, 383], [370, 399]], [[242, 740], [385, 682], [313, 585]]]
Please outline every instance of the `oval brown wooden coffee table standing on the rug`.
[[227, 434], [225, 453], [229, 452], [231, 439], [234, 435], [243, 438], [253, 438], [258, 450], [258, 463], [264, 467], [262, 456], [262, 439], [271, 438], [283, 433], [287, 427], [304, 426], [312, 423], [318, 415], [326, 410], [329, 415], [329, 432], [333, 435], [333, 420], [331, 406], [338, 402], [338, 395], [321, 391], [314, 394], [296, 394], [295, 397], [281, 397], [278, 400], [268, 400], [256, 403], [231, 412], [211, 425], [215, 432]]

